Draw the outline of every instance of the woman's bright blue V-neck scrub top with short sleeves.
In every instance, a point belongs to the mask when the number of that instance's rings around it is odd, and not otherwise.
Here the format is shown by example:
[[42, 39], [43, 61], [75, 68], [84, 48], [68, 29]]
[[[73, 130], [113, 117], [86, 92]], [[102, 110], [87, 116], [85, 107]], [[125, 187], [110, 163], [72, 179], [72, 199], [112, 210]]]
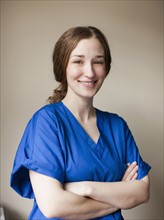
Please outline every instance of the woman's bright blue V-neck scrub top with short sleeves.
[[[113, 113], [96, 109], [96, 114], [100, 132], [97, 143], [62, 102], [44, 106], [27, 124], [15, 156], [11, 187], [21, 196], [34, 199], [29, 219], [47, 219], [35, 200], [29, 170], [61, 183], [115, 182], [121, 181], [127, 163], [136, 161], [138, 179], [148, 174], [151, 167], [142, 160], [126, 122]], [[119, 210], [96, 219], [121, 220], [123, 217]]]

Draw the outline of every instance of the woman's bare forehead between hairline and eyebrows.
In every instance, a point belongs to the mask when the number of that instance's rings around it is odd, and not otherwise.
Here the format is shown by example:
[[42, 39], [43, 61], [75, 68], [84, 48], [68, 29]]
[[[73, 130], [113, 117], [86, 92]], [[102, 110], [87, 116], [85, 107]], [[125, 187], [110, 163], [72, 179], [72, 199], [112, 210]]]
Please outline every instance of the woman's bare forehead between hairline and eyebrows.
[[80, 40], [75, 49], [72, 51], [71, 56], [88, 54], [95, 56], [104, 55], [103, 46], [95, 37]]

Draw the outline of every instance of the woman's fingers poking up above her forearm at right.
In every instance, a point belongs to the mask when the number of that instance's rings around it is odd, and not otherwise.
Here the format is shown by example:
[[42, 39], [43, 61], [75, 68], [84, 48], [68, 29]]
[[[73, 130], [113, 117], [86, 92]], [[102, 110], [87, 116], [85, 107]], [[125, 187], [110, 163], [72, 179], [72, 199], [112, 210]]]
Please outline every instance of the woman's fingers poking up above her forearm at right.
[[129, 181], [129, 180], [135, 180], [138, 176], [138, 165], [136, 162], [133, 162], [132, 164], [127, 164], [128, 168], [125, 171], [125, 174], [122, 178], [122, 181]]

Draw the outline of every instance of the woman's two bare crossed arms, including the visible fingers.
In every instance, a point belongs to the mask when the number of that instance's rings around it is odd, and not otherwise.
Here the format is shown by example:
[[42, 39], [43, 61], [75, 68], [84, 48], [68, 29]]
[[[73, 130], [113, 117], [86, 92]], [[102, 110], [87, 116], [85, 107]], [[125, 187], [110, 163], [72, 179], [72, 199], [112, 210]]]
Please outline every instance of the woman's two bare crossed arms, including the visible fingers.
[[72, 182], [29, 171], [38, 206], [47, 218], [93, 219], [130, 209], [149, 199], [149, 177], [136, 180], [138, 166], [129, 164], [120, 182]]

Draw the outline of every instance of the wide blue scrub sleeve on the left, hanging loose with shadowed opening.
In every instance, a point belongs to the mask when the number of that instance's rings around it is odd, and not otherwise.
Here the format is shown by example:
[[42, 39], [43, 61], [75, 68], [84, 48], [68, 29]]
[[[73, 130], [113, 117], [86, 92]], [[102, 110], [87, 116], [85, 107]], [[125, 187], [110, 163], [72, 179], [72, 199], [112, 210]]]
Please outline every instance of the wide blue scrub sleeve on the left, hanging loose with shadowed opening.
[[11, 173], [11, 187], [33, 198], [29, 170], [64, 182], [64, 159], [54, 112], [41, 109], [31, 118], [18, 146]]

